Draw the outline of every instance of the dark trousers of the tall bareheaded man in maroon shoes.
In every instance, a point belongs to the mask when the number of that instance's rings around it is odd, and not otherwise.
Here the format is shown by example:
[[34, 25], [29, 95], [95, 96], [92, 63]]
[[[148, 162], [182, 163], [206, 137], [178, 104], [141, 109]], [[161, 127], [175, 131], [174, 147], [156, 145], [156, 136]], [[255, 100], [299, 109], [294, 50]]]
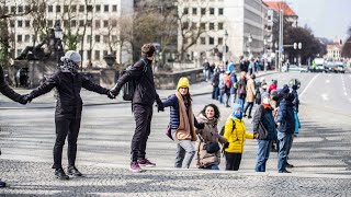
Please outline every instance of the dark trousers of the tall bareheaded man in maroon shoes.
[[150, 135], [152, 105], [133, 105], [135, 132], [132, 139], [132, 161], [145, 159], [146, 142]]

